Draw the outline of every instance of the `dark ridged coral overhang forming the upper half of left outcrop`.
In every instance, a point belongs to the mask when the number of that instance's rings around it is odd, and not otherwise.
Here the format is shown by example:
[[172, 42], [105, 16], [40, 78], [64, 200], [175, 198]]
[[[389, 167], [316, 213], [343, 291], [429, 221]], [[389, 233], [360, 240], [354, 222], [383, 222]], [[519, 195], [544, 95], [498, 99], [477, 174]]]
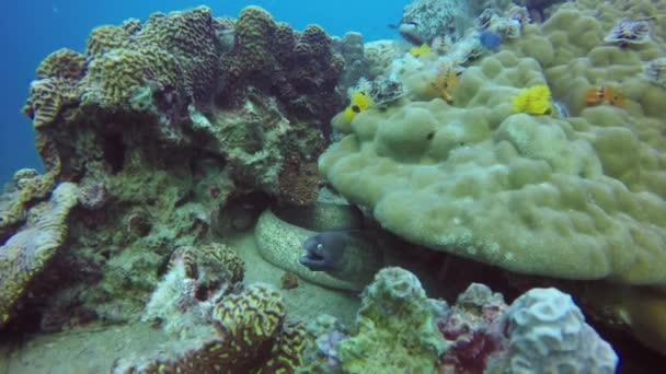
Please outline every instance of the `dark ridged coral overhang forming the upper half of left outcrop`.
[[154, 13], [93, 30], [85, 54], [47, 56], [23, 110], [64, 161], [64, 179], [106, 174], [90, 171], [88, 160], [100, 157], [96, 168], [117, 173], [128, 153], [172, 164], [151, 151], [166, 147], [228, 161], [241, 194], [307, 204], [341, 103], [345, 59], [334, 47], [321, 27], [296, 32], [257, 7], [238, 20], [205, 7]]

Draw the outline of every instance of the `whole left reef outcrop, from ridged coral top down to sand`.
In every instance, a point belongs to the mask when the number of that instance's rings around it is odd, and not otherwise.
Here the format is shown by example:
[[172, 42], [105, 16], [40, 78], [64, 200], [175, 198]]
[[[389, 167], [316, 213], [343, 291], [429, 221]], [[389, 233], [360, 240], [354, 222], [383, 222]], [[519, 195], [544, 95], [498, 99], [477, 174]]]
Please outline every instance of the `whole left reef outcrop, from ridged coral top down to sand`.
[[[24, 107], [46, 173], [21, 177], [0, 202], [5, 238], [57, 182], [80, 186], [70, 252], [49, 277], [76, 270], [42, 318], [74, 305], [136, 320], [175, 247], [248, 229], [268, 201], [312, 203], [342, 98], [335, 48], [363, 63], [358, 37], [334, 45], [319, 26], [296, 32], [259, 8], [232, 20], [199, 7], [100, 26], [84, 54], [46, 57]], [[248, 199], [241, 222], [232, 211]]]

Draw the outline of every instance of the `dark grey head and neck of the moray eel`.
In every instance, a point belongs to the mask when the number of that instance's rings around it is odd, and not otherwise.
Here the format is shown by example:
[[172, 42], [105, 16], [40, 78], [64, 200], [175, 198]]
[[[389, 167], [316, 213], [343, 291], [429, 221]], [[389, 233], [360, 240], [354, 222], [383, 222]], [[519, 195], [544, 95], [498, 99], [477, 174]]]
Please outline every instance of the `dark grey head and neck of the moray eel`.
[[303, 242], [298, 261], [312, 271], [355, 284], [367, 284], [383, 265], [381, 252], [361, 232], [325, 231]]

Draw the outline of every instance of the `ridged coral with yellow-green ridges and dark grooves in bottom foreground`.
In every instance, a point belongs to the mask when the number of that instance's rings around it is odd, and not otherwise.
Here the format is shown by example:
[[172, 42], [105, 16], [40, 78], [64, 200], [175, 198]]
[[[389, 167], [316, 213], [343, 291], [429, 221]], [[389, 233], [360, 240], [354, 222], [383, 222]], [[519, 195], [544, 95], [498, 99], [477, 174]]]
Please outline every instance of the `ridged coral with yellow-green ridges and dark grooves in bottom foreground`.
[[220, 300], [197, 339], [171, 341], [157, 357], [123, 358], [114, 373], [280, 373], [301, 363], [305, 327], [285, 320], [278, 291], [253, 284]]

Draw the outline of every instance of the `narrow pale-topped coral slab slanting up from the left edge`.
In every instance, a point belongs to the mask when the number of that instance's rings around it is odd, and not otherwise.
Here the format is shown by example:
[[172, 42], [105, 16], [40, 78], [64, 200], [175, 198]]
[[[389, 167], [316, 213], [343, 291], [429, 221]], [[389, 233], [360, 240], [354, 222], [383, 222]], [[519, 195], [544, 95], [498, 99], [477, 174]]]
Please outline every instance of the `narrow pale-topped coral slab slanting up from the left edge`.
[[27, 211], [26, 223], [0, 246], [0, 328], [65, 242], [67, 218], [76, 204], [77, 186], [60, 184], [47, 201]]

